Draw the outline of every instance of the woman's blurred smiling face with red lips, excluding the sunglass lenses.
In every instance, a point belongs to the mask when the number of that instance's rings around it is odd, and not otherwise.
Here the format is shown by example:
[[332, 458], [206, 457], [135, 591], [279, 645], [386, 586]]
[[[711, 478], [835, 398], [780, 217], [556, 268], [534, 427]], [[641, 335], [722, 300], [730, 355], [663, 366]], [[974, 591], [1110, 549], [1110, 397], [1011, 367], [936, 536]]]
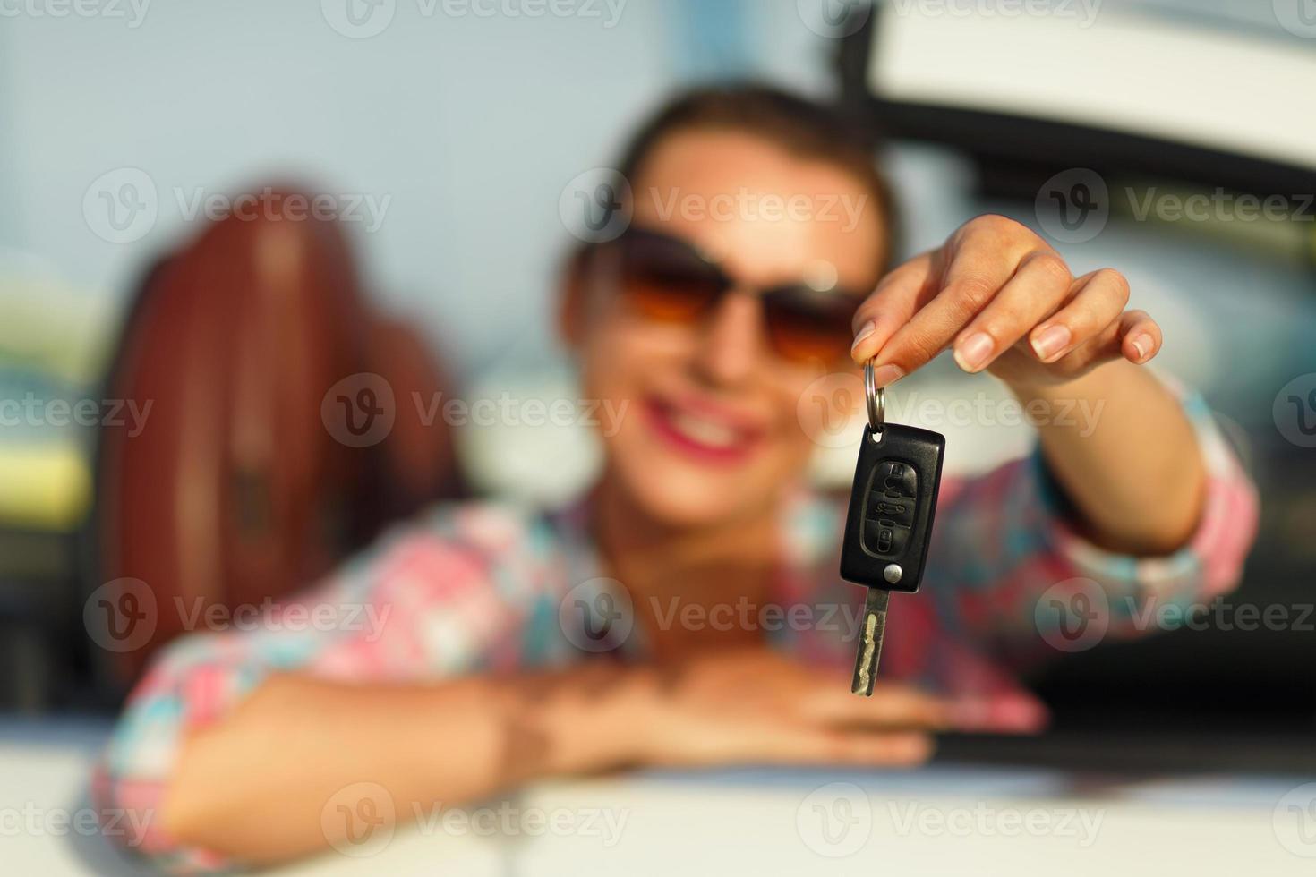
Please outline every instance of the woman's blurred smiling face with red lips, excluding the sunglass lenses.
[[630, 183], [632, 227], [692, 245], [733, 287], [697, 318], [672, 321], [609, 283], [607, 258], [582, 272], [567, 331], [584, 392], [625, 410], [604, 437], [605, 477], [667, 526], [770, 511], [820, 434], [821, 406], [799, 405], [801, 394], [853, 366], [845, 339], [822, 355], [783, 354], [755, 291], [807, 283], [853, 309], [878, 280], [879, 205], [845, 170], [734, 130], [666, 137]]

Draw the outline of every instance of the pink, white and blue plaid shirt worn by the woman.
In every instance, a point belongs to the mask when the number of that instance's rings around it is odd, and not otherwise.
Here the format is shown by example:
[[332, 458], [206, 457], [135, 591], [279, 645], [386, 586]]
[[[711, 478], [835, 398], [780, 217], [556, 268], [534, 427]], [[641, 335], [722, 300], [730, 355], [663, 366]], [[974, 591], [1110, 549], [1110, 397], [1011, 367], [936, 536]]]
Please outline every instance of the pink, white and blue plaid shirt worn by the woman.
[[[1255, 534], [1255, 492], [1203, 401], [1187, 397], [1184, 408], [1209, 481], [1196, 533], [1166, 557], [1120, 556], [1079, 536], [1036, 452], [983, 476], [945, 477], [925, 586], [898, 601], [883, 678], [1028, 709], [1036, 701], [1015, 680], [1021, 661], [1086, 647], [1094, 632], [1136, 634], [1152, 602], [1186, 607], [1230, 589]], [[759, 625], [774, 647], [836, 665], [838, 684], [849, 678], [863, 601], [863, 589], [836, 572], [844, 515], [841, 500], [796, 494], [783, 519], [786, 563], [770, 605], [729, 607], [737, 613], [729, 618]], [[93, 781], [103, 809], [137, 811], [139, 819], [120, 826], [145, 826], [122, 840], [167, 870], [233, 865], [176, 844], [159, 827], [158, 805], [183, 734], [224, 719], [270, 673], [433, 682], [561, 667], [608, 648], [642, 656], [638, 626], [625, 635], [628, 625], [619, 622], [600, 636], [588, 613], [574, 609], [596, 605], [603, 590], [604, 607], [625, 600], [599, 579], [588, 517], [588, 501], [557, 511], [440, 508], [242, 630], [171, 643], [133, 692]], [[1076, 598], [1104, 611], [1075, 639], [1049, 606]]]

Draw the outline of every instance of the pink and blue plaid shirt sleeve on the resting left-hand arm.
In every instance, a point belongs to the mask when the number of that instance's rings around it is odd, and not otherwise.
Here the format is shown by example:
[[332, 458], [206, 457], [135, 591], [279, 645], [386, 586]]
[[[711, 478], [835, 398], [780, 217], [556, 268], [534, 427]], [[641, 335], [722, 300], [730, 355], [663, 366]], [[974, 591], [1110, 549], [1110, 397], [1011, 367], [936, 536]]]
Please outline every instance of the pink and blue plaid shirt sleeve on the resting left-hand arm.
[[396, 682], [517, 665], [546, 568], [530, 551], [541, 536], [501, 510], [443, 509], [295, 600], [246, 607], [250, 617], [234, 611], [205, 622], [217, 632], [174, 640], [129, 696], [93, 773], [100, 811], [124, 817], [107, 835], [170, 873], [234, 869], [161, 826], [184, 734], [229, 715], [272, 673]]

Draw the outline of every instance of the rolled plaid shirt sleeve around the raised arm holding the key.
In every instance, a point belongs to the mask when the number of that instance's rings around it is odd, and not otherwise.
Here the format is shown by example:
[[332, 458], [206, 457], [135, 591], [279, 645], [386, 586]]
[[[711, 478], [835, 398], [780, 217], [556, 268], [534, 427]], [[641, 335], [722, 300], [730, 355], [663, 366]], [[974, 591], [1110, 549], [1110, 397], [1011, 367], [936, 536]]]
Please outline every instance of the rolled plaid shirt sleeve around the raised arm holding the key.
[[941, 543], [934, 556], [950, 564], [941, 610], [963, 634], [1066, 648], [1078, 628], [1073, 618], [1050, 609], [1059, 605], [1091, 615], [1098, 638], [1132, 636], [1153, 627], [1146, 623], [1149, 610], [1209, 602], [1238, 582], [1257, 533], [1255, 488], [1202, 397], [1169, 385], [1182, 400], [1207, 468], [1202, 517], [1184, 547], [1138, 557], [1083, 538], [1034, 450], [969, 480], [945, 517], [938, 513], [938, 523], [949, 526], [934, 534]]

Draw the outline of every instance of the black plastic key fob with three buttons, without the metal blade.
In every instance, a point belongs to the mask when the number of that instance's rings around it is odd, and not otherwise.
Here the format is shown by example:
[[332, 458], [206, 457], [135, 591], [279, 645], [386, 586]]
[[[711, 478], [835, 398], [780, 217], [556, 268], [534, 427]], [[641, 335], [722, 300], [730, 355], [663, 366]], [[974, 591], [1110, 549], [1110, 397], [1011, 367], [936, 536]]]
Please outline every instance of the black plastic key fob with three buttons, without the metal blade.
[[919, 590], [941, 486], [946, 438], [901, 423], [863, 429], [841, 547], [841, 577]]

